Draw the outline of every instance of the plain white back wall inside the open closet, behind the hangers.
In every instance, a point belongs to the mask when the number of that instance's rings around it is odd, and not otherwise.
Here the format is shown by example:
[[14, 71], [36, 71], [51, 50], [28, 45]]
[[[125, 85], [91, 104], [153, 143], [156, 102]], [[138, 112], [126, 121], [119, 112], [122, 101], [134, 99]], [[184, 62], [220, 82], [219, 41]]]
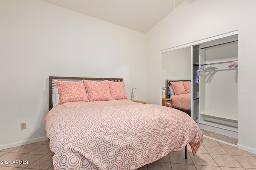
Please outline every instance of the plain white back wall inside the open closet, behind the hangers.
[[[237, 42], [203, 50], [206, 53], [206, 63], [237, 60]], [[215, 64], [217, 70], [205, 72], [205, 111], [237, 117], [238, 69], [227, 68], [229, 64]]]

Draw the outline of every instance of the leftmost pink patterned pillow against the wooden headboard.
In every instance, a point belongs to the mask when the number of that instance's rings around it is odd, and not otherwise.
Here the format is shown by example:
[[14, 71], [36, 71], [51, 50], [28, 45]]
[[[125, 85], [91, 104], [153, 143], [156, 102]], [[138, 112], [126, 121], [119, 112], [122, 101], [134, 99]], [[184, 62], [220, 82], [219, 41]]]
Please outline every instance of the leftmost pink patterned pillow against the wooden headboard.
[[84, 83], [81, 82], [69, 82], [69, 81], [57, 81], [54, 80], [54, 84], [58, 89], [60, 103], [58, 105], [68, 102], [88, 101], [86, 89]]

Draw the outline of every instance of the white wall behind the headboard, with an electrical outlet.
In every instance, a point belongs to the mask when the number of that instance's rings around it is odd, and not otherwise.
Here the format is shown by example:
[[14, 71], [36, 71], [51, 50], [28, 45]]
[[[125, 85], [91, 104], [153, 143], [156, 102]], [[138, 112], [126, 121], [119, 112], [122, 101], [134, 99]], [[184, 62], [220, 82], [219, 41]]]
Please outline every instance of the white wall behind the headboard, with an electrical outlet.
[[123, 78], [145, 101], [145, 34], [40, 0], [1, 0], [0, 25], [0, 149], [46, 139], [48, 76]]

